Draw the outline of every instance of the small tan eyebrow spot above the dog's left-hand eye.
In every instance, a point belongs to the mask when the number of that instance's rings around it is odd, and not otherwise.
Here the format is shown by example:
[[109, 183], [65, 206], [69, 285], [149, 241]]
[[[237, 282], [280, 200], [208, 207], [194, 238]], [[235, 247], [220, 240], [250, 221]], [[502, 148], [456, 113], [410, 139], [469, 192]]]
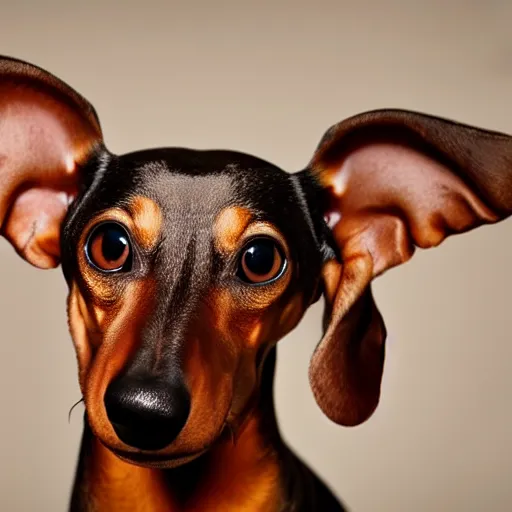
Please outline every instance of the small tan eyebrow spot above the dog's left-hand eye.
[[162, 232], [162, 210], [149, 197], [134, 197], [128, 205], [133, 218], [133, 231], [140, 246], [149, 251], [153, 249]]

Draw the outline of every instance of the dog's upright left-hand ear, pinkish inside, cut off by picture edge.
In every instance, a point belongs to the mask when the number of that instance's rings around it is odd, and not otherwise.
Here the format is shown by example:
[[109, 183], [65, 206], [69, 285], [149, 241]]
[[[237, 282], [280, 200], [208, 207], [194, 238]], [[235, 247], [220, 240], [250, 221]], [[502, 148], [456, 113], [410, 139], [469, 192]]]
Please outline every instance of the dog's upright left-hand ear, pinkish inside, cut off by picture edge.
[[60, 261], [79, 169], [102, 146], [93, 107], [46, 71], [0, 56], [0, 234], [32, 265]]

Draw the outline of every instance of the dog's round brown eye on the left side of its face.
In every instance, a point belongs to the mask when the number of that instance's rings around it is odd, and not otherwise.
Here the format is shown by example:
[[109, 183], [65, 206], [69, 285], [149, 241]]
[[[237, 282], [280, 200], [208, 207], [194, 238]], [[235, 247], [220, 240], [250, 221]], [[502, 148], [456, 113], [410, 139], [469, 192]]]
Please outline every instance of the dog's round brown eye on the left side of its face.
[[128, 272], [131, 269], [130, 238], [120, 224], [106, 222], [97, 226], [89, 236], [86, 253], [89, 261], [100, 270]]

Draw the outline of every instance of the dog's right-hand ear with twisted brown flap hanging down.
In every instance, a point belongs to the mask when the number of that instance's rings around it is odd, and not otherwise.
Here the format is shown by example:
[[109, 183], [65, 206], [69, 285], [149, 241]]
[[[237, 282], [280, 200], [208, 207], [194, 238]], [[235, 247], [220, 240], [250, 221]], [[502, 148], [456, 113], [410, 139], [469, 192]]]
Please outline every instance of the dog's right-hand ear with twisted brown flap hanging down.
[[323, 412], [353, 426], [380, 396], [386, 329], [372, 280], [416, 247], [512, 213], [512, 138], [414, 112], [367, 112], [333, 126], [299, 177], [339, 255], [324, 267], [310, 382]]

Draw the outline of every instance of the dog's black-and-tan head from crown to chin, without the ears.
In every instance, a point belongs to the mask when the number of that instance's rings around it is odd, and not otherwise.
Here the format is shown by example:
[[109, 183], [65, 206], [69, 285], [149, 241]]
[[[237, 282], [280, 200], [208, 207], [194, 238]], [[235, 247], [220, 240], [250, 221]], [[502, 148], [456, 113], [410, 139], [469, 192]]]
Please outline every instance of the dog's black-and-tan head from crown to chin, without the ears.
[[195, 457], [318, 298], [318, 235], [294, 178], [248, 155], [99, 152], [83, 172], [61, 246], [89, 422], [127, 459]]

